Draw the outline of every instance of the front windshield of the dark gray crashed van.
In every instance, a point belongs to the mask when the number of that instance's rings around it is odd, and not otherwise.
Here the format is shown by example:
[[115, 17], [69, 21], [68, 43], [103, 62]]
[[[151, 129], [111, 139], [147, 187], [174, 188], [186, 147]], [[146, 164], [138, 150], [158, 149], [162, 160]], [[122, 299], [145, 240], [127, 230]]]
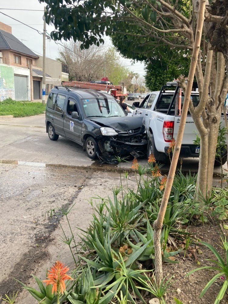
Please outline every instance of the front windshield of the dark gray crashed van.
[[126, 116], [122, 107], [114, 98], [81, 99], [86, 117], [114, 117]]

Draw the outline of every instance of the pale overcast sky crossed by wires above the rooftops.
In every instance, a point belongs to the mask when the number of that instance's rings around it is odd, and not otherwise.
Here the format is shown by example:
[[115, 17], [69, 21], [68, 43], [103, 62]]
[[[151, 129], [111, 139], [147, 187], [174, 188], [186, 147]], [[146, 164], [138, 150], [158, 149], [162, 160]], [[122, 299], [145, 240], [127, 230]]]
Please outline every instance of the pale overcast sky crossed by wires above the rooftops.
[[[8, 10], [9, 9], [9, 10]], [[43, 10], [44, 4], [40, 4], [38, 0], [8, 0], [0, 1], [0, 12], [7, 14], [19, 21], [32, 26], [33, 28], [43, 31], [43, 11], [26, 11], [26, 10], [12, 10], [12, 9], [35, 9]], [[43, 53], [43, 38], [42, 35], [35, 30], [20, 24], [19, 22], [0, 14], [0, 21], [12, 27], [12, 34], [33, 50], [36, 54], [42, 55]], [[47, 25], [47, 33], [51, 33], [54, 27]], [[105, 37], [106, 38], [106, 37]], [[46, 40], [47, 41], [47, 40]], [[105, 46], [111, 45], [109, 39], [105, 39]], [[46, 56], [52, 59], [58, 57], [59, 46], [54, 41], [47, 41], [46, 43]], [[127, 66], [131, 71], [139, 73], [140, 76], [144, 75], [144, 64], [140, 62], [131, 65], [131, 61], [121, 57], [121, 64]]]

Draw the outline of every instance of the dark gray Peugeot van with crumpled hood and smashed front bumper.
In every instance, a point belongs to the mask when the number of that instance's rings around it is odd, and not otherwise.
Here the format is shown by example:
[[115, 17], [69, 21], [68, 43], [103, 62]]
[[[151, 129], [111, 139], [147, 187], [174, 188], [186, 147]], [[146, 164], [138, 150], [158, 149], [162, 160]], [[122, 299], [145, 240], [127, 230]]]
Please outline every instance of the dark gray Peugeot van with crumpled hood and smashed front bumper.
[[59, 135], [97, 155], [146, 153], [146, 127], [141, 117], [126, 116], [114, 97], [83, 88], [53, 88], [47, 99], [46, 130], [50, 140]]

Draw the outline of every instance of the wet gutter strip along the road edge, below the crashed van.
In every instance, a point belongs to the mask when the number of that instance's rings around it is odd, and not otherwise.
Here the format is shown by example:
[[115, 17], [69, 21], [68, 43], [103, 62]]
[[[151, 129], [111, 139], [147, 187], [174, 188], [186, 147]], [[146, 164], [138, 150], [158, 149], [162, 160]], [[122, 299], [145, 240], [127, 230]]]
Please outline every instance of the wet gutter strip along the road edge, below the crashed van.
[[[46, 167], [46, 168], [71, 168], [75, 170], [81, 171], [104, 171], [104, 172], [129, 172], [133, 173], [131, 168], [121, 168], [119, 169], [118, 164], [100, 164], [99, 161], [93, 162], [90, 166], [74, 166], [74, 165], [63, 165], [63, 164], [47, 164], [42, 162], [35, 161], [15, 161], [15, 160], [0, 160], [0, 164], [16, 164], [16, 165], [24, 165], [24, 166], [33, 166], [33, 167]], [[191, 171], [192, 174], [197, 173], [198, 170]], [[162, 170], [161, 173], [168, 175], [169, 171], [167, 169]], [[183, 174], [188, 174], [189, 170], [183, 171]], [[218, 172], [213, 173], [213, 177], [221, 177], [221, 174]]]

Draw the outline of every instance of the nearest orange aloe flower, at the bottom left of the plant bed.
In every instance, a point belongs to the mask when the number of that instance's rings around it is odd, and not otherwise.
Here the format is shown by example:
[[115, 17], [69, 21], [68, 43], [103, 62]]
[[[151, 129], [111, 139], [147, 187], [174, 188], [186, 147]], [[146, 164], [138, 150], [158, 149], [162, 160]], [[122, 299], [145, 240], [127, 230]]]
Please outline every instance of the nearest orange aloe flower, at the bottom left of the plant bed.
[[52, 291], [51, 293], [55, 292], [56, 294], [63, 294], [64, 290], [66, 290], [65, 282], [66, 280], [73, 280], [69, 275], [67, 275], [67, 271], [69, 271], [70, 268], [67, 268], [64, 264], [62, 264], [60, 261], [55, 262], [53, 266], [51, 267], [51, 270], [48, 270], [49, 274], [47, 275], [47, 280], [44, 280], [43, 282], [46, 283], [46, 285], [52, 285]]

